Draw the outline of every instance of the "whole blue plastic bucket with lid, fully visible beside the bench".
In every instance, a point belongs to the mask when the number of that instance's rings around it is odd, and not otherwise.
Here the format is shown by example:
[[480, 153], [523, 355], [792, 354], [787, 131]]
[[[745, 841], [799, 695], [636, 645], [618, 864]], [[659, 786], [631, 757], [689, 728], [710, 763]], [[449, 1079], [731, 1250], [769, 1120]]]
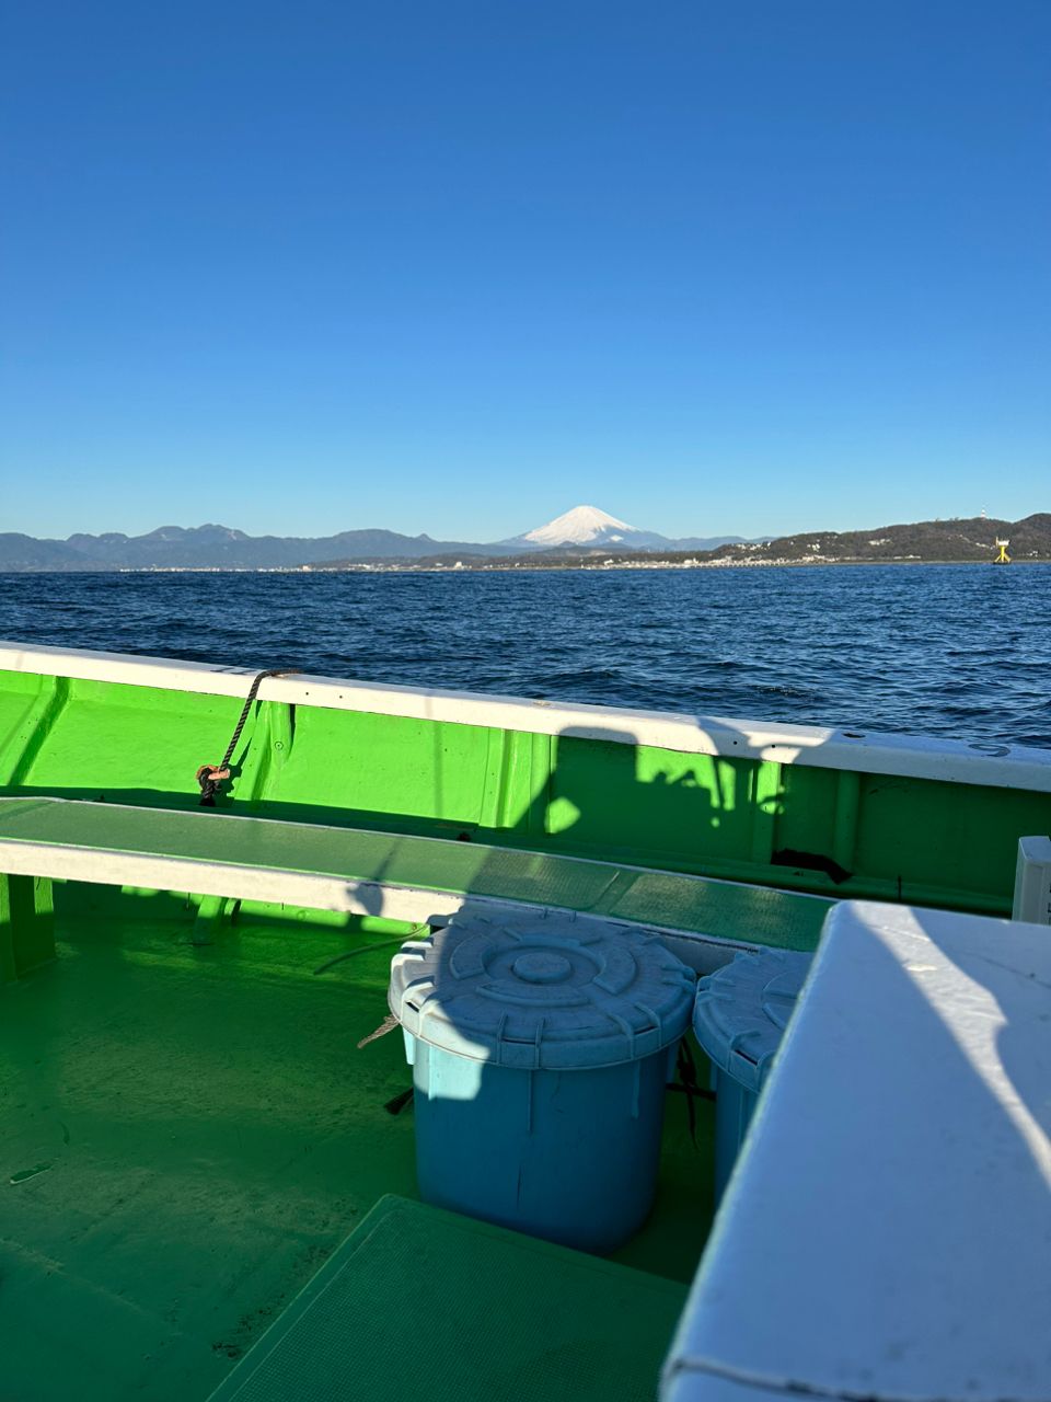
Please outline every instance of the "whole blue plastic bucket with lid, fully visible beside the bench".
[[694, 973], [656, 937], [551, 914], [405, 945], [391, 1011], [413, 1067], [422, 1197], [582, 1251], [653, 1203]]

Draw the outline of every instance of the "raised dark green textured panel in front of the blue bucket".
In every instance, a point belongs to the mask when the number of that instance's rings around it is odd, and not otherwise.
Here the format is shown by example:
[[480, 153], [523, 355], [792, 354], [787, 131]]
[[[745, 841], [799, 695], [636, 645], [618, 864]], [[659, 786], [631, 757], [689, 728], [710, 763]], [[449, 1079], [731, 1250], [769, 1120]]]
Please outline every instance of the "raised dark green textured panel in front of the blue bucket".
[[[406, 1295], [420, 1297], [411, 1314]], [[213, 1402], [652, 1402], [685, 1295], [384, 1197]]]

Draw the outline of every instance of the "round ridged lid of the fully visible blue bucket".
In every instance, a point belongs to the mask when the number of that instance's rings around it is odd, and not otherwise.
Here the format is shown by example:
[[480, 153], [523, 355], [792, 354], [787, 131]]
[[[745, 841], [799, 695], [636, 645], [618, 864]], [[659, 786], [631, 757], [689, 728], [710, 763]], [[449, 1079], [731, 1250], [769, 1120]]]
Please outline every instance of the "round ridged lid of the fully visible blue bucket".
[[696, 976], [631, 925], [551, 913], [455, 917], [402, 945], [388, 1001], [406, 1032], [520, 1070], [618, 1066], [682, 1036]]

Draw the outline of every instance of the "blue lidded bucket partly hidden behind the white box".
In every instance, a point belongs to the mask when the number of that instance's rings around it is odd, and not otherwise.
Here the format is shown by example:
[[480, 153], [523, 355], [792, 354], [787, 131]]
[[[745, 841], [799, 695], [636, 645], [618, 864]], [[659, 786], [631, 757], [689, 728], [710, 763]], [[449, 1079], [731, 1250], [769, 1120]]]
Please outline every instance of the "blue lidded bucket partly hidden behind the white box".
[[765, 949], [739, 953], [701, 980], [694, 1033], [715, 1074], [716, 1202], [737, 1162], [813, 955]]

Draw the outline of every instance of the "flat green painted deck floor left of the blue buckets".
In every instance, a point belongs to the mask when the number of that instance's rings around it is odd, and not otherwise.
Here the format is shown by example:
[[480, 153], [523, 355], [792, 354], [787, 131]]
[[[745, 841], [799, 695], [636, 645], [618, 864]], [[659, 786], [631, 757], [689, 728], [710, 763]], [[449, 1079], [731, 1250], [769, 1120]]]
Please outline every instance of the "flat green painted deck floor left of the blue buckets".
[[[59, 960], [0, 997], [0, 1392], [20, 1402], [207, 1398], [384, 1193], [416, 1195], [412, 1110], [385, 1109], [411, 1082], [401, 1037], [356, 1049], [397, 945], [258, 921], [195, 948], [157, 901], [60, 928]], [[692, 1276], [710, 1162], [708, 1106], [694, 1143], [670, 1095], [657, 1206], [618, 1260]]]

